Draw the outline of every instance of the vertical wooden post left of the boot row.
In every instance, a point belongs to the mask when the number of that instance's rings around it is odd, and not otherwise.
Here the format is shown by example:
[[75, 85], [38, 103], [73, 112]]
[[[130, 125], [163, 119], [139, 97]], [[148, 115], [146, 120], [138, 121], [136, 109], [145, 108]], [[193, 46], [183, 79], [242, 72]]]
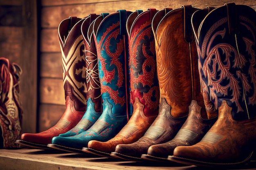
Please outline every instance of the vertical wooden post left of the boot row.
[[20, 81], [20, 95], [23, 105], [22, 131], [36, 132], [37, 114], [37, 1], [22, 0], [23, 32], [21, 40], [20, 66], [23, 74]]

